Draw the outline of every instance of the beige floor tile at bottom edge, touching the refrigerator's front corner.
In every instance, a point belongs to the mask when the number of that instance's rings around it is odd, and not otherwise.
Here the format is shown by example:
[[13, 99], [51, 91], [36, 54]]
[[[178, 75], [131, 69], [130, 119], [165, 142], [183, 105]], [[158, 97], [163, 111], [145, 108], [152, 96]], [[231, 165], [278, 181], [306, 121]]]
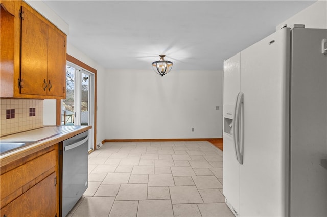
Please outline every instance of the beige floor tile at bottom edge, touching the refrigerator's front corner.
[[225, 203], [204, 203], [198, 207], [203, 217], [234, 217]]

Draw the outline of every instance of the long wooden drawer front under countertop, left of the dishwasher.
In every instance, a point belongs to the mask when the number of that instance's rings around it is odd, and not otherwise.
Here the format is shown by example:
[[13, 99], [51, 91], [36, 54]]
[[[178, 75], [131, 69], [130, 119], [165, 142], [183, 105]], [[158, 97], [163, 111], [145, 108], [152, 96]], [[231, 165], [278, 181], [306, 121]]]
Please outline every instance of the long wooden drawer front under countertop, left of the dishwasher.
[[[1, 206], [6, 205], [6, 201], [10, 201], [10, 199], [14, 199], [26, 192], [30, 187], [42, 180], [44, 176], [49, 175], [43, 173], [55, 171], [55, 166], [56, 152], [53, 150], [1, 175]], [[10, 196], [11, 194], [12, 196]], [[6, 198], [8, 196], [10, 197]]]

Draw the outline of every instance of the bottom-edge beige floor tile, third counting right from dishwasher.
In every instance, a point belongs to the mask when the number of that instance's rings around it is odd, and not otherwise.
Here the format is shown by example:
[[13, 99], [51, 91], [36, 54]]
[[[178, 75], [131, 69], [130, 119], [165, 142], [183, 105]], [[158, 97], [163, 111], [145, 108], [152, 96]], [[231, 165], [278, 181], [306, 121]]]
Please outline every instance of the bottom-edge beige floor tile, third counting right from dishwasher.
[[137, 217], [173, 217], [170, 200], [142, 200], [138, 202]]

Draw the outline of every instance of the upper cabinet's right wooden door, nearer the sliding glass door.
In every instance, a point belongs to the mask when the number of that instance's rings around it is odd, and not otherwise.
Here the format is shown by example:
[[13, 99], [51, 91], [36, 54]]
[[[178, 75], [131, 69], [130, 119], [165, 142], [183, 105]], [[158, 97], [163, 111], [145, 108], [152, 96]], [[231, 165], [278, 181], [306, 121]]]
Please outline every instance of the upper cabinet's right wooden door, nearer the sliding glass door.
[[66, 95], [66, 36], [48, 27], [48, 87], [47, 95]]

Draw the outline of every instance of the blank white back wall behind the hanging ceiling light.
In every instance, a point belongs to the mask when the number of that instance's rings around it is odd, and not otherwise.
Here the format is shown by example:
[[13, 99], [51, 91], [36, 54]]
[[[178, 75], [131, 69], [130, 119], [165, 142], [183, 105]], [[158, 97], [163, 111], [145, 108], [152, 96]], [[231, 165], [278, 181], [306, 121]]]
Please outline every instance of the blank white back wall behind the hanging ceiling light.
[[104, 99], [107, 139], [222, 137], [222, 71], [108, 70]]

